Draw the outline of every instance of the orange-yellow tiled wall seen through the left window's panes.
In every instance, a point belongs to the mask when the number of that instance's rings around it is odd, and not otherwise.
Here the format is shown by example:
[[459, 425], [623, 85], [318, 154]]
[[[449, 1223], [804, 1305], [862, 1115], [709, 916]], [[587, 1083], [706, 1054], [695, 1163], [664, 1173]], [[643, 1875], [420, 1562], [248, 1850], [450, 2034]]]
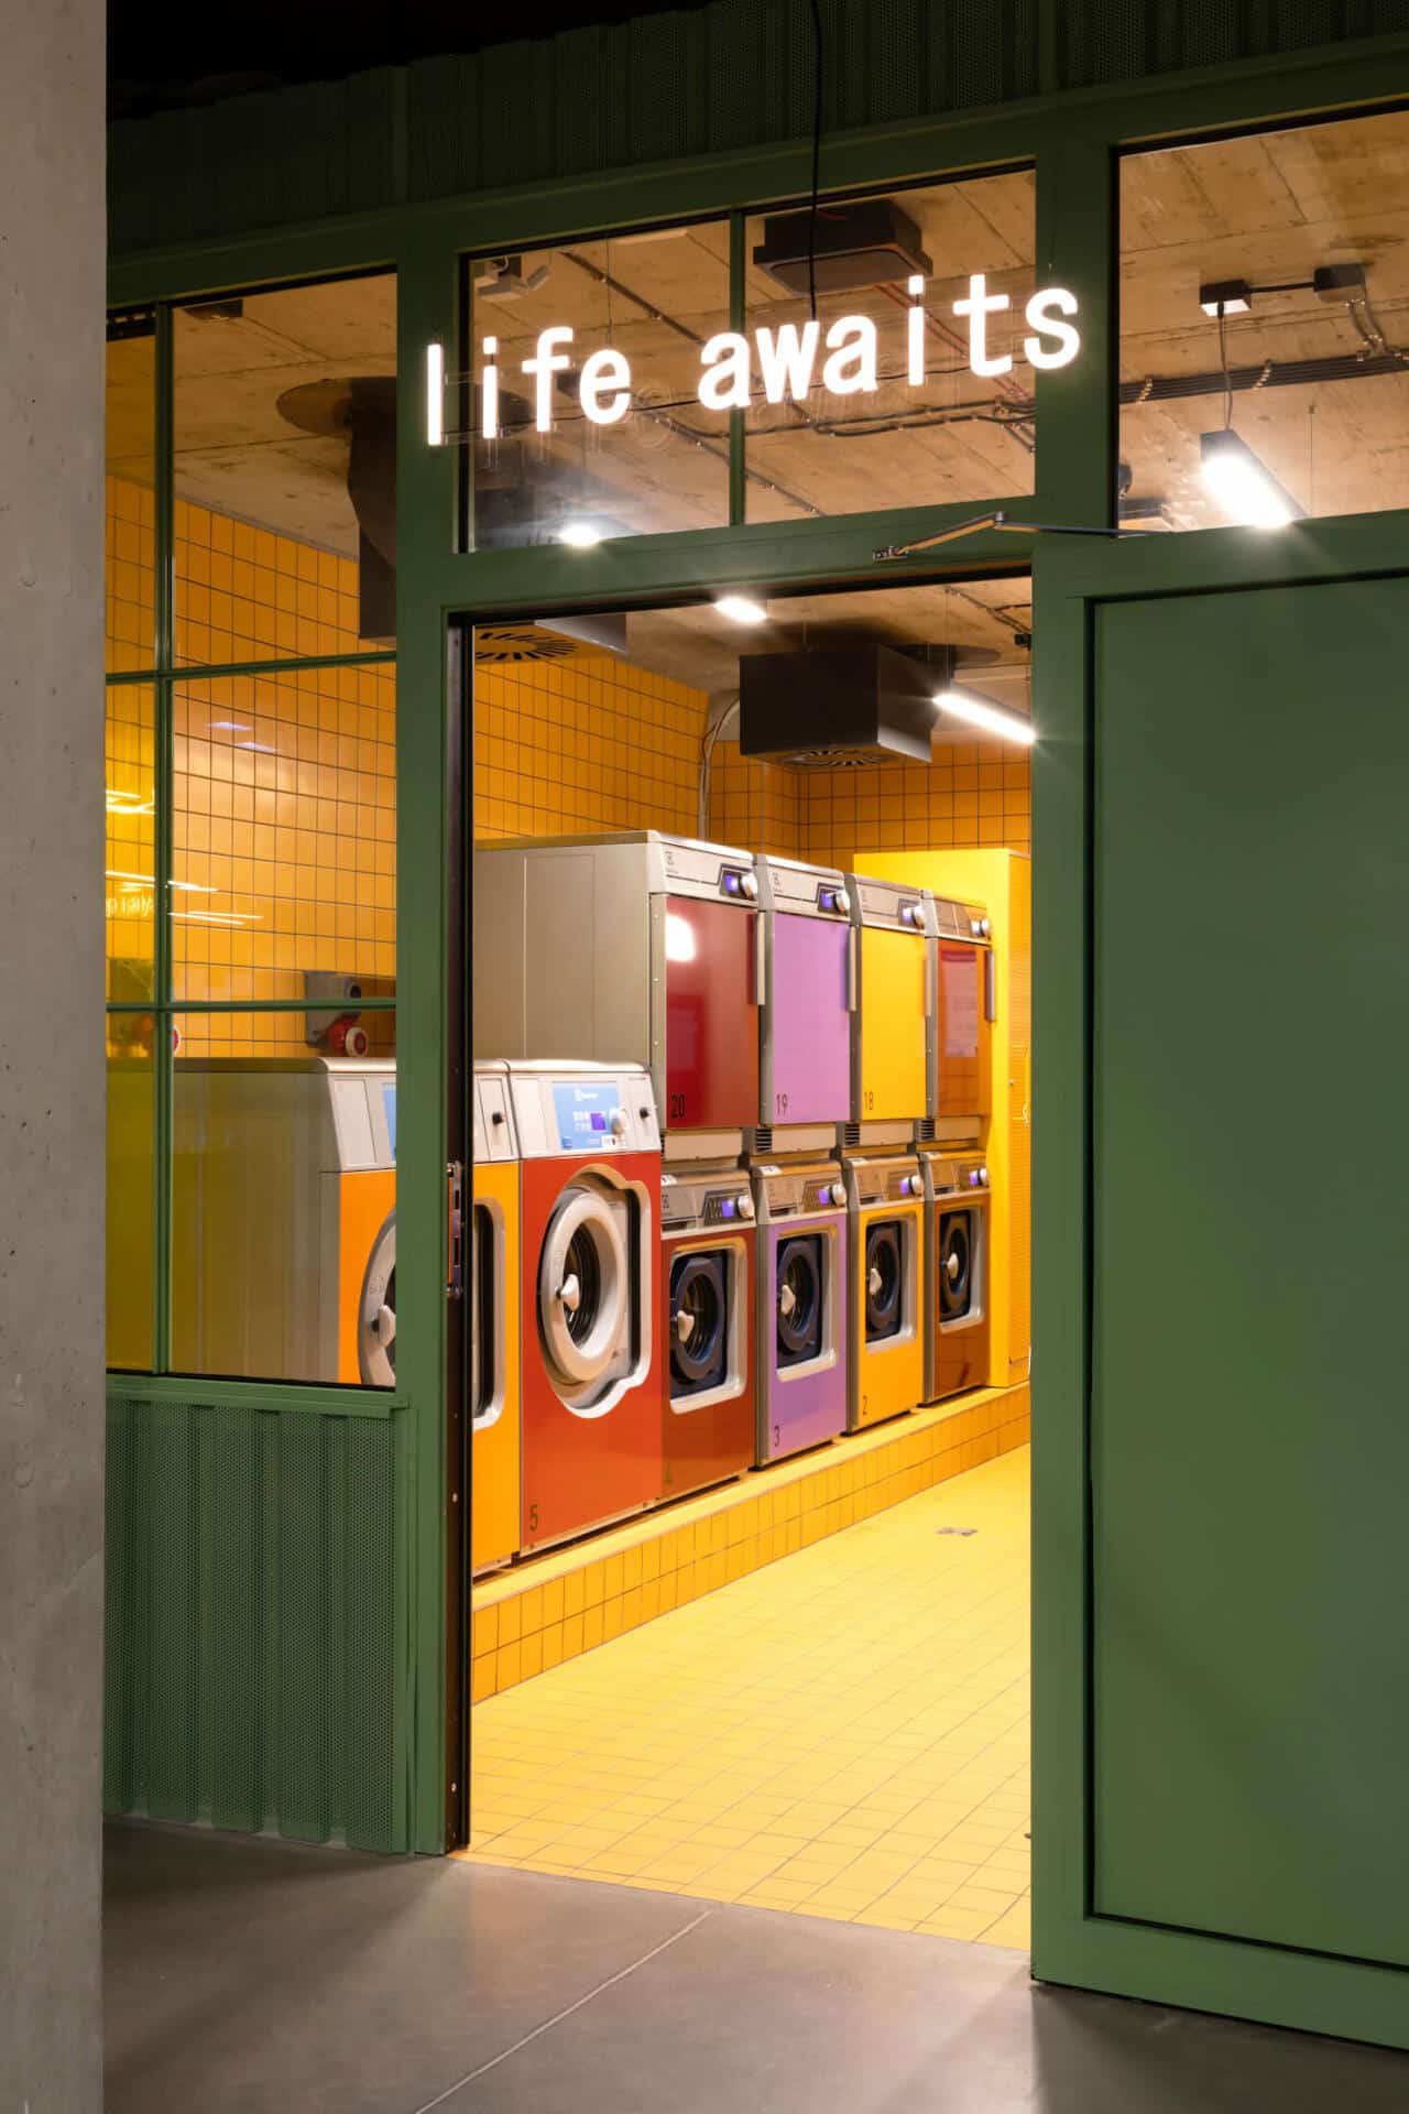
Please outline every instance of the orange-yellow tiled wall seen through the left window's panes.
[[[108, 666], [152, 657], [150, 493], [108, 480]], [[177, 660], [359, 653], [357, 564], [177, 501]], [[152, 693], [108, 691], [108, 958], [152, 956]], [[302, 998], [306, 970], [395, 989], [395, 670], [196, 679], [173, 693], [177, 998]], [[389, 1023], [363, 1025], [380, 1046]], [[256, 1038], [251, 1042], [251, 1036]], [[302, 1015], [188, 1015], [190, 1055], [304, 1046]]]

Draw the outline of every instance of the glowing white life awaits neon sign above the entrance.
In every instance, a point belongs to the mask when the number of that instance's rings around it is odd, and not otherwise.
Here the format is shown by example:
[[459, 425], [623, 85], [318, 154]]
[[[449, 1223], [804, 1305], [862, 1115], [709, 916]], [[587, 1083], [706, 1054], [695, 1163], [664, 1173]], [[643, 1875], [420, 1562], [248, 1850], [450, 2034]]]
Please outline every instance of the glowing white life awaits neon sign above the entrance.
[[[925, 281], [908, 281], [906, 366], [910, 389], [925, 383]], [[989, 349], [989, 321], [1012, 307], [1008, 294], [991, 294], [984, 273], [970, 277], [970, 290], [953, 302], [953, 313], [967, 326], [970, 372], [993, 381], [1008, 374], [1012, 353]], [[1039, 370], [1067, 368], [1082, 351], [1075, 328], [1077, 298], [1067, 288], [1039, 288], [1022, 309], [1029, 336], [1022, 357]], [[572, 326], [551, 323], [541, 330], [528, 359], [520, 361], [532, 383], [532, 423], [539, 433], [553, 429], [553, 376], [572, 368]], [[480, 435], [501, 433], [501, 368], [499, 338], [480, 340]], [[881, 387], [881, 338], [868, 315], [839, 315], [826, 328], [820, 321], [760, 326], [752, 338], [741, 330], [720, 330], [699, 347], [699, 383], [695, 397], [706, 410], [748, 410], [756, 385], [767, 404], [801, 404], [813, 389], [826, 395], [870, 395]], [[446, 361], [439, 345], [427, 347], [427, 442], [439, 448], [444, 423]], [[632, 408], [632, 364], [610, 345], [587, 353], [577, 370], [577, 402], [591, 425], [617, 425]]]

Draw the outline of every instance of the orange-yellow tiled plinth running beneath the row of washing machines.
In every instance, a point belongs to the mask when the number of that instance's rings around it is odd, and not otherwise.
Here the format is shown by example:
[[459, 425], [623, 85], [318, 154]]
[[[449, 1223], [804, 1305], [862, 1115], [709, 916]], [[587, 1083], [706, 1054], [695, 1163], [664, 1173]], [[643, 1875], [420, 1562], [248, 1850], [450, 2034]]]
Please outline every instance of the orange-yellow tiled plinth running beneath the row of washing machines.
[[978, 1389], [494, 1573], [471, 1594], [471, 1700], [503, 1695], [1027, 1438], [1029, 1387]]

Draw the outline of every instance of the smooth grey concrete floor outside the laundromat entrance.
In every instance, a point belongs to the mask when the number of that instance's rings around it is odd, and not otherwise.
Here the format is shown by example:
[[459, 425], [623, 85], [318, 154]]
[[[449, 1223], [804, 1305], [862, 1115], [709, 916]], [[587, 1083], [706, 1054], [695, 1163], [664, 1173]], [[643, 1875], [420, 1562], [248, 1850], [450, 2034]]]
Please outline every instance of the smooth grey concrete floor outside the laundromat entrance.
[[1409, 2057], [1022, 1953], [585, 1879], [108, 1831], [108, 2114], [1403, 2114]]

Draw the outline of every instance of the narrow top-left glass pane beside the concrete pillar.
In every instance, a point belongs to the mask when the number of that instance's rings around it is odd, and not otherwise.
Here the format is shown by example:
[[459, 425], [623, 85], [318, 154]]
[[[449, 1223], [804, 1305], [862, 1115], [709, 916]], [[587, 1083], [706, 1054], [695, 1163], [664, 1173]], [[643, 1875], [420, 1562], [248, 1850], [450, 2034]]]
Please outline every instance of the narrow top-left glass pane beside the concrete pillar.
[[108, 323], [108, 674], [156, 660], [156, 338], [152, 317]]

